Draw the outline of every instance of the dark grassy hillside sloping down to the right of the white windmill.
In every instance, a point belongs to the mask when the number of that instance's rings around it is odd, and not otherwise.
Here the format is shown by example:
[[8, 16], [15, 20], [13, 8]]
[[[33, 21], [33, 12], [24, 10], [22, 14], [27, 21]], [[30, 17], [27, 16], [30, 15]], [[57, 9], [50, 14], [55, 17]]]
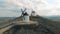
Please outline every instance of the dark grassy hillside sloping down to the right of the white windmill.
[[60, 34], [60, 21], [52, 21], [52, 20], [49, 20], [40, 16], [31, 17], [31, 20], [36, 20], [40, 24], [47, 26], [50, 30], [52, 30], [56, 34], [57, 33]]

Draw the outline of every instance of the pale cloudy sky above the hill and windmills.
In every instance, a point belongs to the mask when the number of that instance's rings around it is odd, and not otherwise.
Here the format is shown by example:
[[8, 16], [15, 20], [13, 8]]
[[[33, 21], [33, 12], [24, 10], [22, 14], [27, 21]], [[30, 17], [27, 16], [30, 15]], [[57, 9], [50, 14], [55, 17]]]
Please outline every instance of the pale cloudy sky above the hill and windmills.
[[60, 15], [60, 0], [0, 0], [0, 17], [18, 17], [21, 8], [40, 16]]

